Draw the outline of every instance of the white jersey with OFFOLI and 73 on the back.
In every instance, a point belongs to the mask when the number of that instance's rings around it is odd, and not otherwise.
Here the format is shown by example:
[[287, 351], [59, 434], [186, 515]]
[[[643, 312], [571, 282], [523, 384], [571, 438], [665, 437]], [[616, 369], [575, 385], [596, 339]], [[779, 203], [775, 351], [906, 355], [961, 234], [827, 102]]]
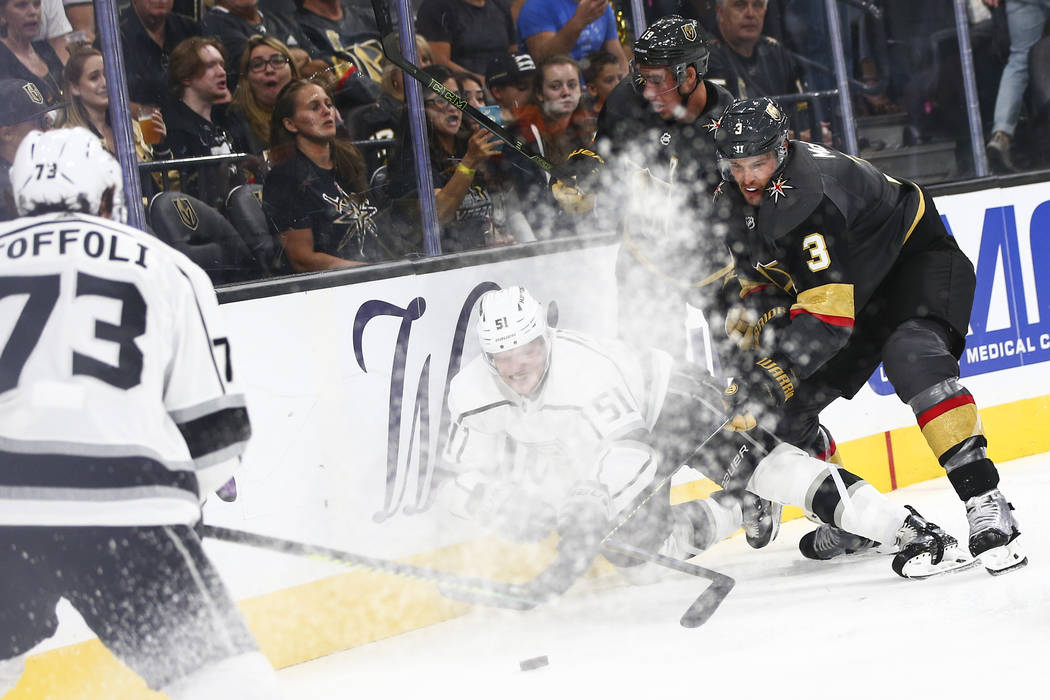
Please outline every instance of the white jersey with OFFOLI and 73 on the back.
[[0, 227], [0, 525], [191, 524], [251, 428], [207, 275], [84, 214]]

